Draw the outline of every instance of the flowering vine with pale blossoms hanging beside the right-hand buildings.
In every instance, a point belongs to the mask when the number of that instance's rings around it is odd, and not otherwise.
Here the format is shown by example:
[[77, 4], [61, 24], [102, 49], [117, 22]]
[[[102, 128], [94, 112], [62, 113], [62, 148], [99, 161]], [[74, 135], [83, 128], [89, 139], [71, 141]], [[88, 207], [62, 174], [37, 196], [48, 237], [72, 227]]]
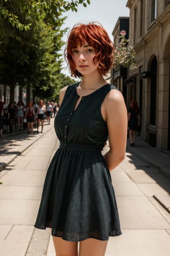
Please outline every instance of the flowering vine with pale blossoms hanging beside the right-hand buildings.
[[137, 68], [136, 54], [133, 46], [128, 45], [129, 39], [124, 36], [119, 36], [121, 42], [115, 48], [114, 60], [115, 65], [122, 65], [123, 67], [130, 67], [130, 69]]

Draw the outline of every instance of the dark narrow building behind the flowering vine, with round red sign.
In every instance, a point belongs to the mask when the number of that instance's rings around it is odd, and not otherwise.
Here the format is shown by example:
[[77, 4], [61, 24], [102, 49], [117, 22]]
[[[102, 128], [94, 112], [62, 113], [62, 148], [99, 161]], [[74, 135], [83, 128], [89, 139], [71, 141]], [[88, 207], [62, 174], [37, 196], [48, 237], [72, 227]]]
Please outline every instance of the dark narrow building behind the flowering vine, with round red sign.
[[[112, 35], [114, 38], [115, 47], [121, 41], [119, 36], [124, 35], [126, 39], [129, 39], [129, 17], [118, 18]], [[124, 84], [124, 80], [127, 79], [127, 68], [124, 68], [121, 65], [115, 65], [115, 67], [111, 69], [111, 75], [111, 83], [121, 91], [124, 97], [124, 101], [127, 102], [127, 86]]]

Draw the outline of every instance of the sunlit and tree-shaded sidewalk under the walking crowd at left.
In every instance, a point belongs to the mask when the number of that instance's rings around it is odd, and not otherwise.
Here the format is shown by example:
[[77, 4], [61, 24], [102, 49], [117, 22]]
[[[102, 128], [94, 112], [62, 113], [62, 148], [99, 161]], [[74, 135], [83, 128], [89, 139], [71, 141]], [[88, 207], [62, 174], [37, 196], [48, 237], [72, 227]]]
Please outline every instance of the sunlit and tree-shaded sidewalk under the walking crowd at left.
[[[34, 142], [39, 140], [44, 134], [53, 128], [54, 118], [51, 119], [51, 125], [44, 123], [43, 134], [33, 130], [33, 136], [27, 135], [27, 130], [19, 134], [5, 135], [0, 138], [0, 171], [9, 165], [18, 155], [22, 154]], [[41, 127], [40, 129], [41, 130]]]

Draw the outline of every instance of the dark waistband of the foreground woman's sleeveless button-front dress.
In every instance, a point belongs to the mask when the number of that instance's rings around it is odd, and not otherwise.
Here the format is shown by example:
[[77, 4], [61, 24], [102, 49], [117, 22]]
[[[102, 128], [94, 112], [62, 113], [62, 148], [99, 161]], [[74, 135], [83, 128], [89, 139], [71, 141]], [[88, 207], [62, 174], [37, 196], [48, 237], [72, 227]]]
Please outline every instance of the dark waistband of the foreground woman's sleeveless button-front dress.
[[79, 144], [79, 143], [64, 143], [60, 142], [59, 148], [62, 149], [74, 149], [74, 150], [85, 150], [85, 151], [98, 151], [101, 152], [103, 149], [93, 147], [89, 144]]

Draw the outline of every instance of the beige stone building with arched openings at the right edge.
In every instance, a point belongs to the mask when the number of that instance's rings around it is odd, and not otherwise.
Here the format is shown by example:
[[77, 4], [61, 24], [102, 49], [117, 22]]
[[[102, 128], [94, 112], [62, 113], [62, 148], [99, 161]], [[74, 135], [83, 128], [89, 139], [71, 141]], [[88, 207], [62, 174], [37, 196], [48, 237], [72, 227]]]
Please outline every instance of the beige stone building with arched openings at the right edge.
[[128, 0], [129, 44], [137, 69], [128, 71], [127, 105], [142, 110], [143, 140], [159, 151], [170, 150], [170, 0]]

